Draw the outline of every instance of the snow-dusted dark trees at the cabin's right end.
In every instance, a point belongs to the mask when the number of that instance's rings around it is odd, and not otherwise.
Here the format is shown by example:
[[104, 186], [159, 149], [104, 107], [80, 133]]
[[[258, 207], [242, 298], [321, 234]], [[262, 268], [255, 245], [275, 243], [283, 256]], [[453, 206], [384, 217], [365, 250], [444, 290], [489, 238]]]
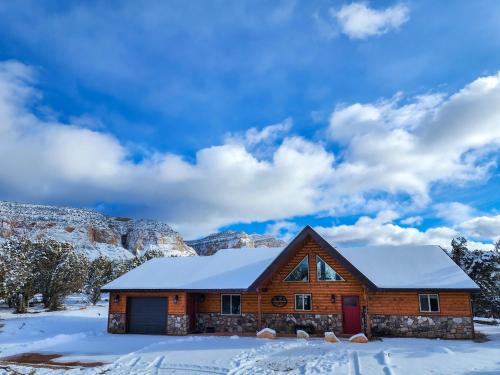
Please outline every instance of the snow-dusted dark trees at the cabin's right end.
[[451, 258], [481, 288], [472, 294], [475, 316], [500, 318], [500, 240], [493, 251], [471, 250], [467, 239], [451, 241]]

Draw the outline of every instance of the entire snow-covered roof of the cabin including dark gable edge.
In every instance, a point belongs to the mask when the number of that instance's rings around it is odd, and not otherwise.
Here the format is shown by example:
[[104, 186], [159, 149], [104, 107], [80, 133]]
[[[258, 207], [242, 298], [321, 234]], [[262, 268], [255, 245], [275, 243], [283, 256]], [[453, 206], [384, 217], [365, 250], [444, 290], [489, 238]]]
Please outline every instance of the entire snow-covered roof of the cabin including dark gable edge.
[[103, 289], [246, 290], [280, 254], [284, 256], [301, 246], [306, 235], [311, 235], [332, 256], [339, 258], [337, 252], [342, 255], [354, 269], [345, 260], [339, 260], [372, 288], [478, 289], [476, 283], [438, 246], [334, 248], [310, 227], [306, 227], [284, 249], [226, 249], [211, 256], [153, 259]]

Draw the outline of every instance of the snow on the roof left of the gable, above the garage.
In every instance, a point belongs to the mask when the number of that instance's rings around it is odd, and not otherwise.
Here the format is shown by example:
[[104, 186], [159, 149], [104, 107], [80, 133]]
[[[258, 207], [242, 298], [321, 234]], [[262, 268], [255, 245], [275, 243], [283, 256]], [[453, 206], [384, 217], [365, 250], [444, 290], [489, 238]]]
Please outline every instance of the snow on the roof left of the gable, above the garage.
[[247, 289], [281, 251], [241, 248], [220, 250], [207, 257], [156, 258], [103, 289]]

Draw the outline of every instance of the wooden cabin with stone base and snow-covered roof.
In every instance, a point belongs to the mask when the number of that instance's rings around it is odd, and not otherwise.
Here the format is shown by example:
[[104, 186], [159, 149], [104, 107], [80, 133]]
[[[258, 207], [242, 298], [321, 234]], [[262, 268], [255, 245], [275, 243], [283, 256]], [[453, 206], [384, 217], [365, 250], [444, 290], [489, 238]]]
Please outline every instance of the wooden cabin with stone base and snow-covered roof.
[[305, 227], [284, 248], [156, 258], [103, 288], [108, 331], [363, 332], [473, 338], [478, 286], [438, 246], [337, 248]]

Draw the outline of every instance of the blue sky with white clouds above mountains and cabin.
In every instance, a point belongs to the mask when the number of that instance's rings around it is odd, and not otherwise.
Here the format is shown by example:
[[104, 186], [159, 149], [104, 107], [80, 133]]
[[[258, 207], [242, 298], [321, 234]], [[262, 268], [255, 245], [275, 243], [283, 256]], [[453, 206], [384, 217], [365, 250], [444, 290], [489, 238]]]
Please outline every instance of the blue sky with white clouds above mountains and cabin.
[[0, 199], [187, 238], [500, 236], [496, 1], [20, 1], [0, 19]]

